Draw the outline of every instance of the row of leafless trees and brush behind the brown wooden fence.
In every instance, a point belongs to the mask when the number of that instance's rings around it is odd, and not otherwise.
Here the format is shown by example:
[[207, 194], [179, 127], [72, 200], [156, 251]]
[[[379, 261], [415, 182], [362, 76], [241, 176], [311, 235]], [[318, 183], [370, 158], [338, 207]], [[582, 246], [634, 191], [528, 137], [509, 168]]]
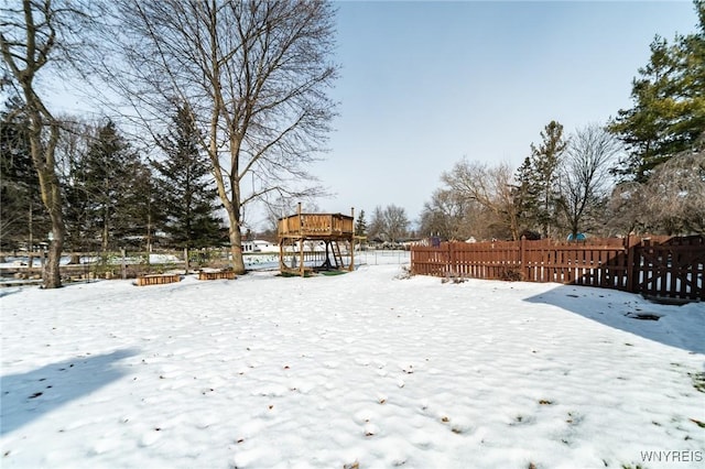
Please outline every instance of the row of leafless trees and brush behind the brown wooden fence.
[[[658, 166], [646, 184], [612, 177], [622, 148], [601, 126], [578, 129], [566, 143], [552, 184], [552, 236], [705, 233], [703, 139]], [[464, 159], [441, 179], [443, 187], [422, 211], [421, 233], [478, 240], [541, 236], [540, 221], [527, 216], [519, 174], [509, 164]]]

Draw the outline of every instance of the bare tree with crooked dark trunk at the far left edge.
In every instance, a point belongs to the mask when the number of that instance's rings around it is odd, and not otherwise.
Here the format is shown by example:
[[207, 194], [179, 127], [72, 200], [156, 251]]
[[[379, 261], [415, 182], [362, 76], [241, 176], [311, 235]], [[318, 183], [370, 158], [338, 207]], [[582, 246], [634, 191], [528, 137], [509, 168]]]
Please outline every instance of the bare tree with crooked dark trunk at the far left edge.
[[44, 271], [44, 287], [55, 288], [62, 284], [58, 262], [65, 237], [55, 159], [59, 122], [40, 95], [37, 81], [40, 75], [46, 76], [52, 65], [56, 73], [57, 68], [70, 63], [72, 42], [85, 18], [78, 2], [61, 0], [6, 2], [0, 14], [0, 51], [4, 75], [23, 100], [32, 163], [52, 225], [53, 239]]

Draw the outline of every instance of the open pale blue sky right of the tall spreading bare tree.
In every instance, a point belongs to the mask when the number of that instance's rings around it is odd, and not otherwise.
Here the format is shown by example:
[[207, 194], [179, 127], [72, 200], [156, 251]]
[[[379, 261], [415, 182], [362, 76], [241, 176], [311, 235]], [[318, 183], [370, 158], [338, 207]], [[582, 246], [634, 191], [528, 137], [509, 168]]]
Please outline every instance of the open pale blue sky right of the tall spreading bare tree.
[[566, 132], [630, 107], [654, 34], [696, 29], [690, 1], [337, 2], [340, 101], [322, 210], [394, 204], [410, 219], [464, 156], [518, 166], [551, 120]]

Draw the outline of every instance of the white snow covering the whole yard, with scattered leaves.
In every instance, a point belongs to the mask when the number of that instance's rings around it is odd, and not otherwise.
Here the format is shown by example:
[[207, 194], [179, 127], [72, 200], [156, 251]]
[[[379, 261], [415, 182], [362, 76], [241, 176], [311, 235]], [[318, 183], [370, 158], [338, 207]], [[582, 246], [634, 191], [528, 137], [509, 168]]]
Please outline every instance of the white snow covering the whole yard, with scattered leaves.
[[0, 465], [702, 467], [703, 304], [379, 263], [0, 290]]

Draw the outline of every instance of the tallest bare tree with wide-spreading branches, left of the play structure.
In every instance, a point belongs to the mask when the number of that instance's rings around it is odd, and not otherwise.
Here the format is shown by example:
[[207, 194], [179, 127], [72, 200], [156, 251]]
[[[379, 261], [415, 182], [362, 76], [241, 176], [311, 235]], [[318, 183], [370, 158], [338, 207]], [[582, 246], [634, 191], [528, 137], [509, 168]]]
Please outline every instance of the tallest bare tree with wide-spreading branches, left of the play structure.
[[334, 10], [323, 1], [116, 4], [111, 34], [121, 62], [104, 63], [109, 81], [153, 133], [170, 102], [189, 105], [228, 215], [232, 268], [243, 272], [245, 207], [317, 190], [302, 182], [313, 181], [305, 167], [335, 113], [326, 96], [337, 74]]

